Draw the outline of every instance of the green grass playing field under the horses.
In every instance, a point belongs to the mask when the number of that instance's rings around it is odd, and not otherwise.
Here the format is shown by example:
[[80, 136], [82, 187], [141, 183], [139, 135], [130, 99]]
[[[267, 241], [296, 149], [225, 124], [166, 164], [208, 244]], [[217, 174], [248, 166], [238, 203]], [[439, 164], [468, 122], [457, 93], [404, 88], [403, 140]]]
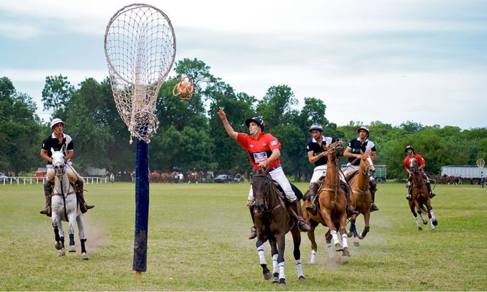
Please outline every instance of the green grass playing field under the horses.
[[[298, 183], [301, 190], [307, 183]], [[325, 228], [317, 229], [318, 260], [309, 265], [310, 243], [302, 234], [307, 279], [296, 277], [287, 237], [286, 280], [290, 291], [485, 291], [487, 284], [487, 189], [439, 185], [432, 200], [436, 232], [415, 226], [404, 184], [379, 184], [371, 231], [351, 245], [352, 256], [330, 261]], [[51, 219], [38, 214], [42, 186], [0, 185], [0, 289], [3, 291], [274, 291], [265, 281], [245, 206], [248, 184], [150, 186], [147, 272], [141, 284], [131, 270], [134, 185], [89, 184], [85, 217], [90, 260], [59, 257]], [[363, 218], [357, 219], [358, 230]], [[66, 226], [66, 225], [64, 225]], [[66, 227], [65, 227], [66, 230]], [[350, 243], [352, 241], [350, 240]], [[265, 245], [268, 264], [270, 250]]]

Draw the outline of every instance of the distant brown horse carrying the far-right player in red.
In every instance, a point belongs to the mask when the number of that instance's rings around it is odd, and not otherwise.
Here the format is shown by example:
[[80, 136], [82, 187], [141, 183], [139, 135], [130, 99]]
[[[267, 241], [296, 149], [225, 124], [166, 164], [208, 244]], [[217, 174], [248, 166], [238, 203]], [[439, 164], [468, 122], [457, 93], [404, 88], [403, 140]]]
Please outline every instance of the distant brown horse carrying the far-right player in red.
[[428, 222], [423, 217], [423, 213], [428, 211], [431, 231], [434, 232], [434, 227], [438, 225], [438, 221], [434, 217], [433, 207], [431, 207], [430, 196], [428, 194], [428, 187], [426, 186], [423, 176], [420, 173], [419, 163], [416, 159], [411, 158], [409, 160], [409, 170], [412, 173], [412, 200], [409, 201], [409, 207], [412, 215], [414, 216], [414, 221], [416, 221], [416, 226], [418, 227], [418, 230], [423, 230], [419, 224], [418, 216], [414, 209], [417, 210], [423, 224], [425, 225], [428, 224]]

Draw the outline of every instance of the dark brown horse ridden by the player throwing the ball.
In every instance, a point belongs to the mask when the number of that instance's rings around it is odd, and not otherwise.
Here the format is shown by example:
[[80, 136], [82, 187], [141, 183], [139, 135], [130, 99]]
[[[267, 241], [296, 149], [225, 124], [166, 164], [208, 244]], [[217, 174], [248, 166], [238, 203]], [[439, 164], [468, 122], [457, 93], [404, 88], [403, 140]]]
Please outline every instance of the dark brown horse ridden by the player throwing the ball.
[[284, 247], [286, 234], [291, 231], [293, 236], [294, 251], [296, 259], [296, 269], [298, 278], [304, 279], [301, 266], [301, 234], [297, 223], [294, 222], [292, 215], [284, 205], [283, 199], [278, 194], [276, 184], [270, 177], [269, 168], [265, 171], [254, 171], [252, 178], [252, 191], [254, 193], [255, 208], [254, 218], [257, 228], [257, 252], [261, 261], [262, 273], [266, 280], [271, 278], [267, 262], [264, 256], [264, 242], [269, 240], [272, 253], [273, 279], [281, 288], [286, 287], [286, 277], [284, 275]]

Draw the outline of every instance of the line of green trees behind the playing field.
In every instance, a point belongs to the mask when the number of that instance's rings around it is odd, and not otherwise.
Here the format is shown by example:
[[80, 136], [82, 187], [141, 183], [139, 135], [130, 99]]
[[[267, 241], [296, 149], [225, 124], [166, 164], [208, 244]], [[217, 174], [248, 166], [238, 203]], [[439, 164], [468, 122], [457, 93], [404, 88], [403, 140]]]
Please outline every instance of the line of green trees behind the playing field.
[[[365, 125], [350, 121], [337, 126], [326, 118], [326, 105], [314, 97], [298, 100], [287, 85], [271, 86], [261, 99], [232, 86], [210, 73], [198, 59], [176, 62], [176, 76], [166, 80], [157, 100], [155, 115], [158, 133], [151, 138], [150, 169], [160, 172], [177, 169], [241, 172], [250, 170], [247, 153], [230, 139], [216, 115], [223, 107], [236, 131], [248, 132], [244, 121], [262, 116], [265, 130], [281, 142], [281, 162], [295, 181], [309, 180], [314, 166], [309, 163], [304, 145], [311, 138], [313, 123], [323, 126], [325, 136], [342, 138], [347, 143], [357, 136], [356, 128], [368, 126], [370, 140], [377, 148], [376, 164], [386, 164], [388, 177], [403, 178], [404, 147], [412, 144], [427, 160], [426, 170], [437, 173], [442, 165], [475, 164], [487, 158], [487, 128], [461, 129], [438, 125], [423, 126], [406, 121], [399, 126], [381, 121]], [[189, 76], [200, 92], [190, 100], [172, 95], [181, 76]], [[113, 101], [110, 80], [83, 80], [75, 88], [67, 76], [47, 76], [42, 91], [44, 110], [66, 122], [65, 132], [75, 144], [75, 167], [107, 168], [112, 172], [133, 170], [135, 144], [120, 119]], [[36, 114], [30, 96], [15, 89], [7, 77], [0, 78], [0, 170], [32, 173], [45, 165], [40, 158], [42, 140], [52, 131], [49, 122]], [[342, 160], [346, 163], [346, 160]]]

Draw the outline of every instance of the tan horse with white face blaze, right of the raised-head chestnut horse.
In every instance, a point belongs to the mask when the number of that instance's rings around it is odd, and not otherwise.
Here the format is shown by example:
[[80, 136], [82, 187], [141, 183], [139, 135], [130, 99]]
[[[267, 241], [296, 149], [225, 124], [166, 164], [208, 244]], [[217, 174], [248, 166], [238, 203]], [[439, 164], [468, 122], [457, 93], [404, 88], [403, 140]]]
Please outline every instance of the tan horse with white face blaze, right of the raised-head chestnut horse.
[[370, 204], [372, 202], [372, 195], [369, 190], [369, 178], [375, 174], [374, 163], [369, 154], [364, 154], [362, 150], [362, 157], [360, 158], [360, 166], [355, 176], [349, 180], [350, 187], [352, 188], [351, 205], [352, 209], [360, 212], [363, 215], [365, 226], [364, 230], [358, 234], [356, 229], [357, 215], [353, 215], [350, 219], [350, 230], [348, 236], [354, 236], [354, 245], [359, 246], [358, 239], [363, 239], [370, 230]]

